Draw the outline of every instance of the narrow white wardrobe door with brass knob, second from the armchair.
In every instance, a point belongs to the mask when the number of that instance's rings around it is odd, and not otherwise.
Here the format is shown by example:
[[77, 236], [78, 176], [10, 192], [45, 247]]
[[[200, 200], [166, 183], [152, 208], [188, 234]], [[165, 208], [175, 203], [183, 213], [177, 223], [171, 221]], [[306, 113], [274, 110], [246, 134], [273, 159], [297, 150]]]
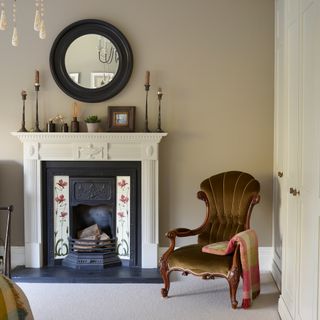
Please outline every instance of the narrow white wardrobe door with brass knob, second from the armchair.
[[[299, 248], [299, 2], [286, 1], [286, 104], [288, 108], [285, 237], [283, 242], [282, 299], [295, 319]], [[291, 189], [291, 192], [290, 192]], [[296, 193], [295, 193], [296, 192]]]

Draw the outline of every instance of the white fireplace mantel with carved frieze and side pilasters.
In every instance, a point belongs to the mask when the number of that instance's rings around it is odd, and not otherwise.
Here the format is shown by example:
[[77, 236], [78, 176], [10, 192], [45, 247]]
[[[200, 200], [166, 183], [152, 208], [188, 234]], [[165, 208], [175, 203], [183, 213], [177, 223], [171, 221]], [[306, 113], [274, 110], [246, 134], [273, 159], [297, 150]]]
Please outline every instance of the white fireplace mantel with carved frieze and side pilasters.
[[167, 133], [13, 132], [23, 143], [26, 267], [42, 266], [41, 161], [141, 161], [142, 267], [158, 266], [158, 146]]

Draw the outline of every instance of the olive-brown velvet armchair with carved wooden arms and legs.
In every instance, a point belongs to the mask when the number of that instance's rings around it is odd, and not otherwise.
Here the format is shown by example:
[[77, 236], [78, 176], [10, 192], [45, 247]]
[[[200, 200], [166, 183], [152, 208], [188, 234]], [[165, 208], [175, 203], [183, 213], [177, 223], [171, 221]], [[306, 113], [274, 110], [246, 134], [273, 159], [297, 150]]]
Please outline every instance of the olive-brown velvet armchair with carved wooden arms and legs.
[[[170, 273], [180, 271], [203, 279], [222, 277], [228, 281], [233, 308], [237, 307], [236, 292], [241, 276], [239, 245], [228, 255], [207, 254], [202, 248], [209, 243], [229, 241], [241, 231], [250, 228], [250, 216], [259, 202], [260, 184], [250, 174], [240, 171], [223, 172], [204, 180], [197, 196], [205, 202], [206, 217], [203, 224], [193, 230], [178, 228], [169, 231], [169, 249], [160, 259], [160, 272], [168, 296]], [[196, 244], [176, 248], [177, 237], [197, 235]]]

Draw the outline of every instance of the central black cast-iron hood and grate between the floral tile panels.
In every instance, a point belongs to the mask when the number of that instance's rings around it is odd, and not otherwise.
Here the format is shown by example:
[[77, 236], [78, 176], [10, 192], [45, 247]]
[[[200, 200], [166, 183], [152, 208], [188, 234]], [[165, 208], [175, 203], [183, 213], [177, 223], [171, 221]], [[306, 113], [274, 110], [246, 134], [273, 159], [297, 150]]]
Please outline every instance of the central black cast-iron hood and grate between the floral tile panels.
[[[121, 265], [115, 236], [115, 177], [70, 177], [69, 181], [69, 253], [62, 265], [82, 270]], [[80, 240], [82, 230], [90, 230], [90, 235], [87, 231], [86, 237]]]

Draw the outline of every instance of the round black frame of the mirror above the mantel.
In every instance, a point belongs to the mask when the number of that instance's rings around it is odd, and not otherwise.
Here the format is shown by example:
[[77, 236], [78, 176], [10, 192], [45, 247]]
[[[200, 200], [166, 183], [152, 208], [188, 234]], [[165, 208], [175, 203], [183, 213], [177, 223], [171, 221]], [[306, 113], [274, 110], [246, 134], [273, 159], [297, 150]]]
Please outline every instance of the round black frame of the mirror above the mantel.
[[[70, 44], [87, 34], [108, 38], [119, 54], [119, 68], [112, 81], [99, 88], [85, 88], [68, 75], [65, 55]], [[80, 20], [63, 29], [55, 39], [50, 52], [50, 69], [60, 89], [68, 96], [83, 102], [101, 102], [118, 94], [128, 83], [133, 68], [133, 54], [125, 36], [113, 25], [95, 19]]]

